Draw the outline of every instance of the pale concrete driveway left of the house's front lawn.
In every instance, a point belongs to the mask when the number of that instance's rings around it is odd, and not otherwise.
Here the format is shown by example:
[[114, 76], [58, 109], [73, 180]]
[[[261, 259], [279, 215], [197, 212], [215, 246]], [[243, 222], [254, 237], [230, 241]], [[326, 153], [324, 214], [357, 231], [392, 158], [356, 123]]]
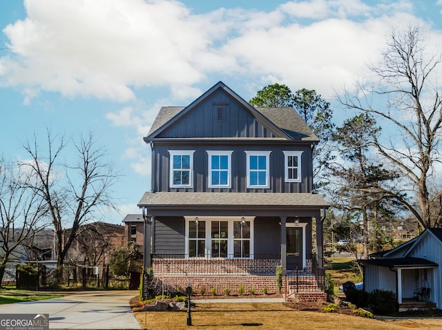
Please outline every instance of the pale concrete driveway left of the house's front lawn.
[[138, 291], [82, 291], [63, 298], [0, 305], [0, 314], [49, 314], [49, 329], [141, 329], [129, 300]]

